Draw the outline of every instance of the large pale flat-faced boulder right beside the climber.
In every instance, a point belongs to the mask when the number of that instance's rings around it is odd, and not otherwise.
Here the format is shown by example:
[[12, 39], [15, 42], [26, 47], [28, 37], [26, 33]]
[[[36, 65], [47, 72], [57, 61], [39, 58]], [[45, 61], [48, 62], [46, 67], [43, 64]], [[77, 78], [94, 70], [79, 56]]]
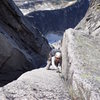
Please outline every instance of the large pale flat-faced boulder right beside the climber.
[[77, 100], [100, 99], [100, 37], [68, 29], [62, 43], [62, 75], [70, 96]]

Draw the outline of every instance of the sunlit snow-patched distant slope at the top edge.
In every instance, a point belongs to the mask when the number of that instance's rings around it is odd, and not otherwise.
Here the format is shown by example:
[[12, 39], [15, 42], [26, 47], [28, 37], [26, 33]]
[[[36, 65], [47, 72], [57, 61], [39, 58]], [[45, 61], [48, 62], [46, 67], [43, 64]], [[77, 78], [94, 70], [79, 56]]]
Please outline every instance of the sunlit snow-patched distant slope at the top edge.
[[39, 10], [61, 9], [76, 2], [76, 0], [14, 0], [14, 1], [24, 14]]

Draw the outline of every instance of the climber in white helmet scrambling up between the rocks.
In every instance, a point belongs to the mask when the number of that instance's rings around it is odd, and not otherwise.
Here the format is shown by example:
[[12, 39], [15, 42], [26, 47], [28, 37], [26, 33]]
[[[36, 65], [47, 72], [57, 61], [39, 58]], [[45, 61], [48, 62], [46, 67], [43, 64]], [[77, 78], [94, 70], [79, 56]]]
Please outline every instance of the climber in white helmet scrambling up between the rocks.
[[58, 49], [51, 50], [51, 52], [49, 53], [46, 69], [49, 70], [50, 66], [52, 65], [52, 67], [57, 68], [57, 72], [60, 72], [59, 66], [61, 66], [61, 62], [62, 62], [61, 58], [62, 56], [60, 50]]

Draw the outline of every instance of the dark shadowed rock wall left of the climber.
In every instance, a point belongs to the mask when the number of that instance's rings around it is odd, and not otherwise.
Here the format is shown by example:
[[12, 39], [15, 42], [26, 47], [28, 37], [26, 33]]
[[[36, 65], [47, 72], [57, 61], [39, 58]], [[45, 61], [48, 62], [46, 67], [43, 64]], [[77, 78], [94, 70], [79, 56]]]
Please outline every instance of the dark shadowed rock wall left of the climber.
[[12, 0], [0, 0], [0, 85], [43, 65], [50, 47]]

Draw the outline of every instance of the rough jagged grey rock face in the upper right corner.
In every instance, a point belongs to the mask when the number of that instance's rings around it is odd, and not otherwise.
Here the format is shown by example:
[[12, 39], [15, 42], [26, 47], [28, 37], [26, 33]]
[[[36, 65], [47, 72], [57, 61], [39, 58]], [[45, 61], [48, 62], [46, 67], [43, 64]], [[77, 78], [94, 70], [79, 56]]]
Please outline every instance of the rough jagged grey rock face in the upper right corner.
[[77, 30], [87, 30], [89, 34], [96, 36], [100, 32], [100, 1], [91, 0], [86, 16], [76, 27]]

